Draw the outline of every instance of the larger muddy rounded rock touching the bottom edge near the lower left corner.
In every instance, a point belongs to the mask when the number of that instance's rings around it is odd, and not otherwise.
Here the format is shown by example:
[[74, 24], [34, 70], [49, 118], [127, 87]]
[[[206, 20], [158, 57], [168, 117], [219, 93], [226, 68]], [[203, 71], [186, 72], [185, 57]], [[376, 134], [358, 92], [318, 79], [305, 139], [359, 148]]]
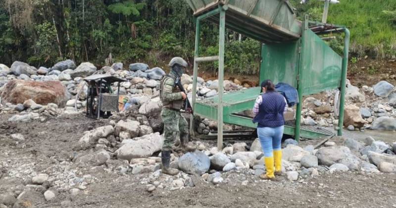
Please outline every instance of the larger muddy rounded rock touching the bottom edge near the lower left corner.
[[14, 208], [41, 207], [44, 203], [45, 199], [42, 193], [27, 189], [16, 198]]

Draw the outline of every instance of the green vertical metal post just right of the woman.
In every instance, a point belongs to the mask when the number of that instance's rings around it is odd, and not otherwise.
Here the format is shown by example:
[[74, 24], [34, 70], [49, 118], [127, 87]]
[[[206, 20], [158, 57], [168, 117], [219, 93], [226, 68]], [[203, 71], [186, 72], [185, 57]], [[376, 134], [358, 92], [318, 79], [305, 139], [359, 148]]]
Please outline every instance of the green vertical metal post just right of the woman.
[[298, 75], [297, 75], [297, 92], [298, 92], [298, 104], [296, 109], [296, 129], [294, 133], [295, 140], [298, 142], [300, 140], [300, 129], [301, 129], [301, 107], [302, 107], [302, 89], [301, 84], [302, 77], [302, 67], [305, 54], [305, 42], [306, 42], [306, 30], [308, 30], [308, 15], [305, 15], [305, 20], [303, 22], [302, 32], [301, 32], [301, 43], [300, 43], [300, 58], [298, 63]]

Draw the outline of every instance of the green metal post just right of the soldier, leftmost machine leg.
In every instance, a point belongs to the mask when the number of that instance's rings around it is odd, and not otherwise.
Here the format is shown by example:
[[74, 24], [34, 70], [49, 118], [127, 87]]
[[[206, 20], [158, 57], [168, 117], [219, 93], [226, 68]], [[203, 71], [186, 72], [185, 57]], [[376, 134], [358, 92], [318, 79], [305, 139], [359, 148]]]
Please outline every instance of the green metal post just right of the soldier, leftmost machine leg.
[[[196, 22], [196, 32], [195, 32], [195, 50], [194, 50], [194, 71], [193, 71], [193, 89], [197, 89], [197, 77], [198, 77], [198, 62], [196, 58], [198, 58], [198, 51], [199, 51], [199, 37], [200, 37], [200, 20], [199, 17], [197, 18]], [[194, 104], [197, 98], [197, 92], [193, 90], [193, 98], [192, 98], [192, 108], [194, 112]], [[190, 135], [195, 136], [194, 131], [194, 115], [191, 114], [190, 116]]]

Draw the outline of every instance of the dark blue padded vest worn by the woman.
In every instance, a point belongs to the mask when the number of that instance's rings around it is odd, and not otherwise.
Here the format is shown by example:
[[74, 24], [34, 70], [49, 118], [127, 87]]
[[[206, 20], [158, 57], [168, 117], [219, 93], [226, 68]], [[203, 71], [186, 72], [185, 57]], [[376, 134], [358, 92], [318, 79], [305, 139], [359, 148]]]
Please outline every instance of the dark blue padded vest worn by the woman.
[[285, 111], [285, 98], [277, 92], [268, 92], [262, 95], [258, 114], [253, 118], [253, 123], [258, 123], [257, 128], [279, 127], [285, 125], [283, 112]]

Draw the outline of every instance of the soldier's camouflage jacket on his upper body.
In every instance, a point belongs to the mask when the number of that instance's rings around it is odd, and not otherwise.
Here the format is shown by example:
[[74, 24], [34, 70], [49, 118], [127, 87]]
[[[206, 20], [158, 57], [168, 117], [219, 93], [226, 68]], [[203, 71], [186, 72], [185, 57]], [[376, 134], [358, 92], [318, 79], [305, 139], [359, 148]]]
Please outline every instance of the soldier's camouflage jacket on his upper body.
[[180, 110], [183, 107], [183, 96], [176, 85], [177, 79], [173, 71], [162, 78], [160, 97], [164, 107]]

